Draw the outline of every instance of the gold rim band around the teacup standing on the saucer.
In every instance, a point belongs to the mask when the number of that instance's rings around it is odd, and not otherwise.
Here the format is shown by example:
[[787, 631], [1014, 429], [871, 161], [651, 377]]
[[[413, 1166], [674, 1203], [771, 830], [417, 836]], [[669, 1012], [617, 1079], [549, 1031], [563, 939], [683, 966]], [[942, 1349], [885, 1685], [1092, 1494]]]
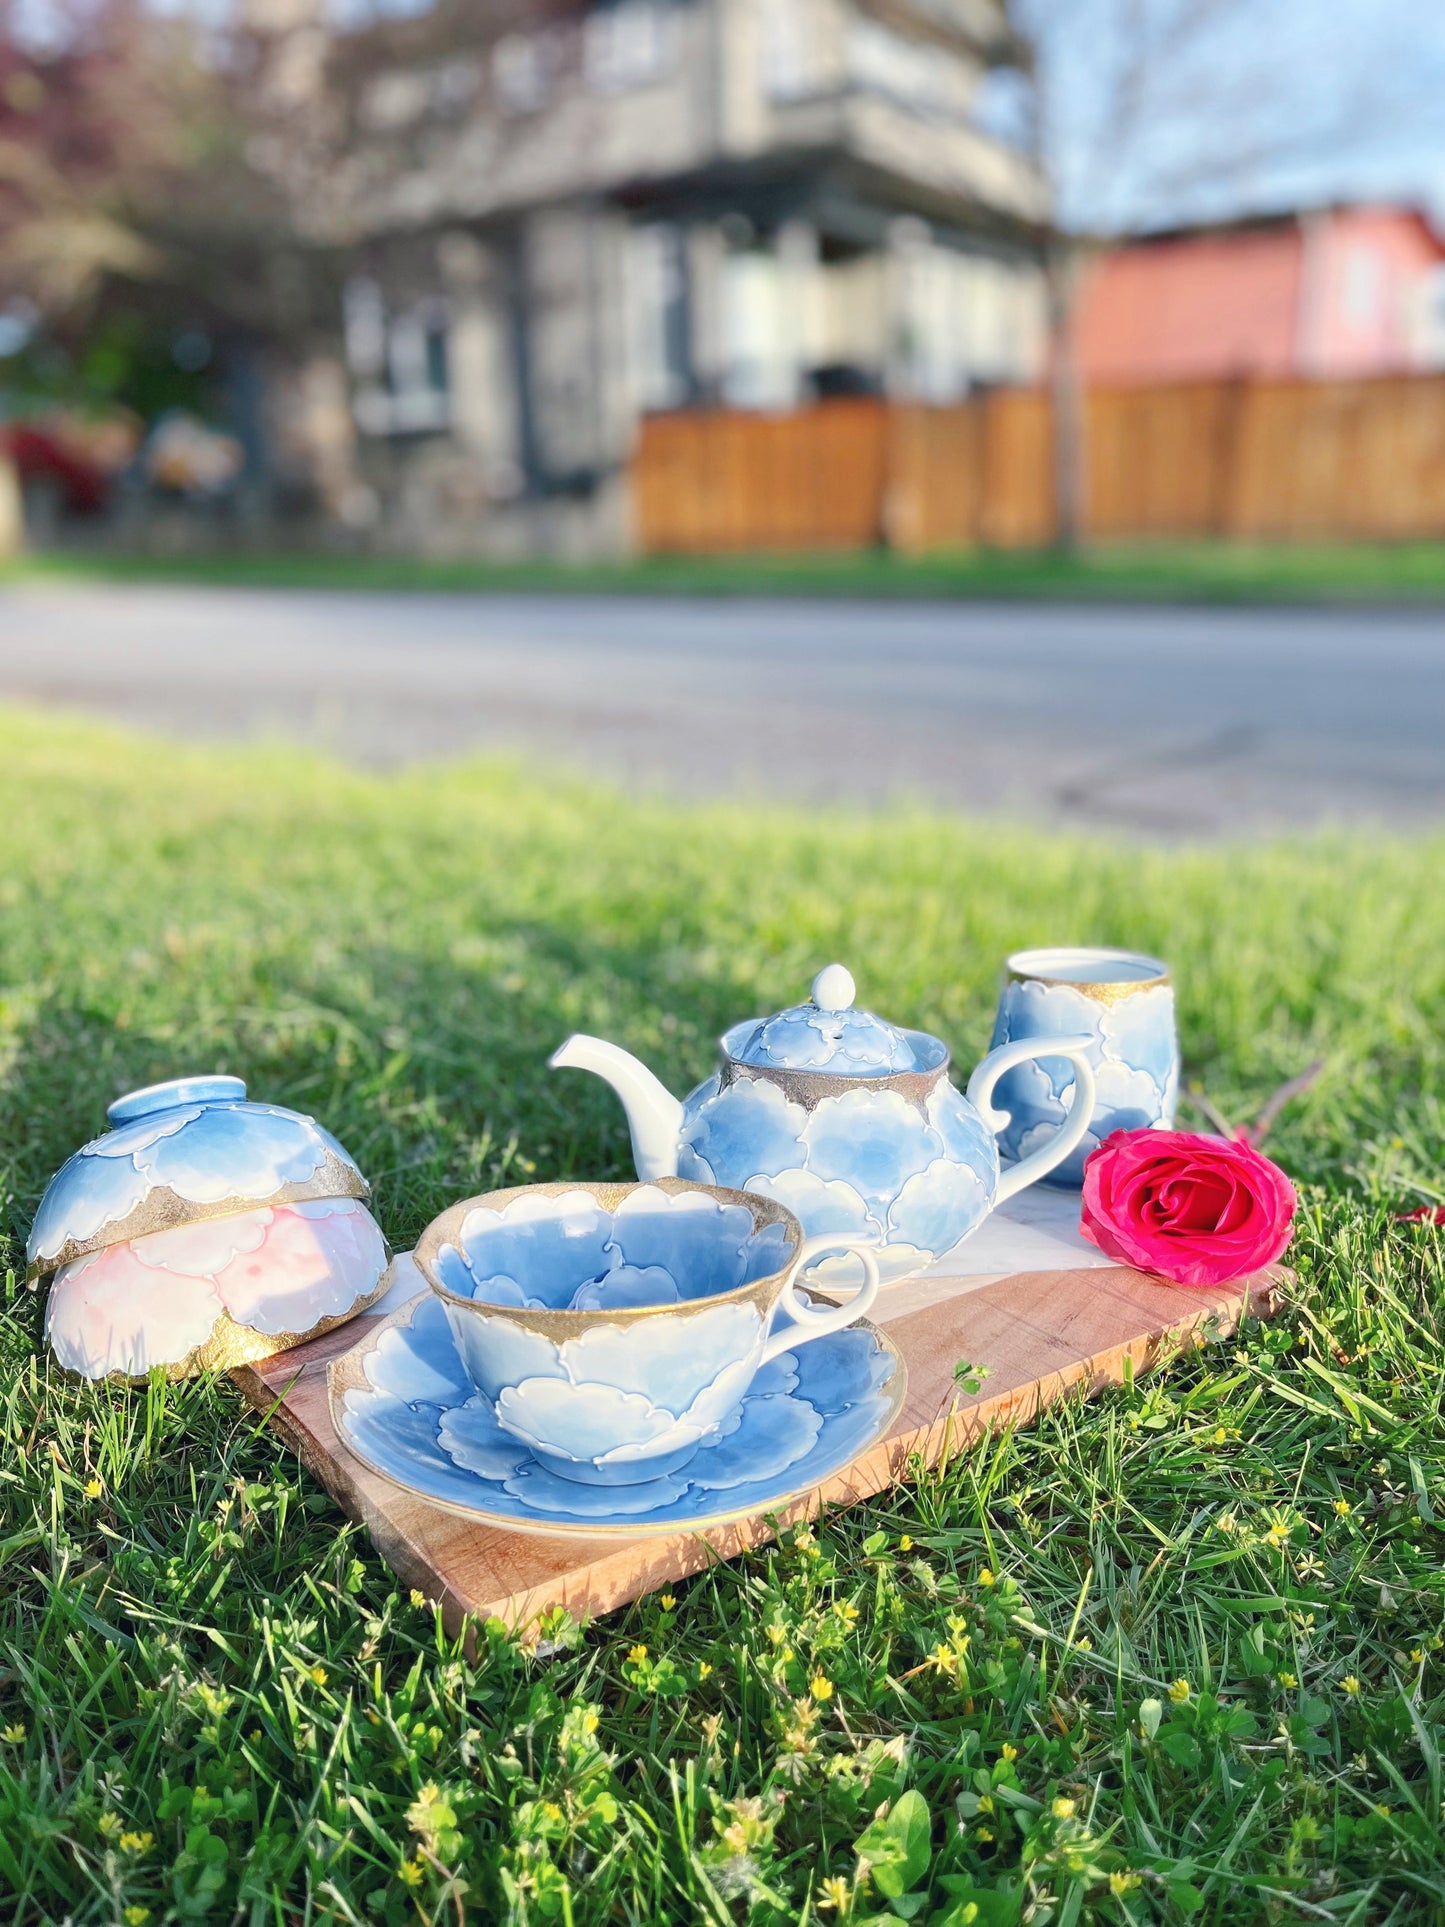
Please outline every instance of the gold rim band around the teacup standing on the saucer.
[[[782, 1224], [792, 1227], [792, 1256], [780, 1272], [769, 1272], [767, 1278], [755, 1278], [749, 1285], [736, 1285], [732, 1291], [715, 1291], [707, 1299], [688, 1299], [682, 1305], [632, 1305], [597, 1312], [532, 1312], [518, 1305], [487, 1305], [484, 1299], [466, 1299], [460, 1291], [451, 1291], [432, 1270], [441, 1245], [460, 1245], [460, 1227], [468, 1212], [505, 1210], [522, 1197], [559, 1199], [568, 1197], [574, 1191], [584, 1191], [609, 1214], [617, 1210], [622, 1199], [632, 1197], [634, 1191], [665, 1191], [669, 1197], [697, 1191], [703, 1197], [721, 1199], [726, 1204], [744, 1204], [753, 1214], [753, 1226], [759, 1229], [765, 1224]], [[522, 1326], [526, 1332], [536, 1332], [539, 1337], [551, 1339], [555, 1345], [565, 1345], [568, 1339], [580, 1337], [593, 1326], [632, 1326], [642, 1324], [645, 1318], [659, 1316], [696, 1318], [699, 1312], [711, 1310], [715, 1305], [751, 1303], [757, 1305], [759, 1310], [769, 1310], [786, 1283], [801, 1243], [801, 1224], [794, 1218], [786, 1204], [778, 1204], [775, 1199], [765, 1199], [755, 1191], [730, 1191], [724, 1185], [696, 1185], [686, 1177], [649, 1177], [617, 1185], [584, 1181], [511, 1185], [507, 1191], [486, 1191], [482, 1197], [462, 1199], [460, 1204], [451, 1204], [439, 1218], [432, 1220], [426, 1231], [422, 1231], [416, 1239], [416, 1251], [412, 1256], [416, 1260], [416, 1270], [443, 1305], [457, 1305], [460, 1310], [472, 1312], [478, 1318], [505, 1318], [509, 1324]]]

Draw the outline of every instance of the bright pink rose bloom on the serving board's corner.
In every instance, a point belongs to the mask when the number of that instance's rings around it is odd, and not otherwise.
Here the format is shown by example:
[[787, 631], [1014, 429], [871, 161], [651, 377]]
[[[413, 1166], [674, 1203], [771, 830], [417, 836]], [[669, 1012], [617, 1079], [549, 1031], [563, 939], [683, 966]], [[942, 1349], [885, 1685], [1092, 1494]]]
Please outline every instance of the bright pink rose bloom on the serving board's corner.
[[1083, 1235], [1175, 1285], [1227, 1285], [1289, 1243], [1295, 1187], [1243, 1139], [1114, 1131], [1085, 1164]]

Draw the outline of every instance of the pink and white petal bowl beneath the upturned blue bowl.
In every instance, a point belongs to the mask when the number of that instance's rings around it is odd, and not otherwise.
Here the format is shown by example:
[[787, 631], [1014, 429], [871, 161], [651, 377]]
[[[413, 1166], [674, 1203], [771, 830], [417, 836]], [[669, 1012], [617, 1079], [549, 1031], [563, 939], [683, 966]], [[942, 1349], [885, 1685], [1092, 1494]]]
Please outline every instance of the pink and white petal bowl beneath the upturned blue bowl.
[[260, 1206], [66, 1264], [46, 1335], [71, 1372], [139, 1378], [179, 1364], [223, 1314], [266, 1337], [304, 1335], [372, 1293], [385, 1264], [376, 1220], [356, 1199]]

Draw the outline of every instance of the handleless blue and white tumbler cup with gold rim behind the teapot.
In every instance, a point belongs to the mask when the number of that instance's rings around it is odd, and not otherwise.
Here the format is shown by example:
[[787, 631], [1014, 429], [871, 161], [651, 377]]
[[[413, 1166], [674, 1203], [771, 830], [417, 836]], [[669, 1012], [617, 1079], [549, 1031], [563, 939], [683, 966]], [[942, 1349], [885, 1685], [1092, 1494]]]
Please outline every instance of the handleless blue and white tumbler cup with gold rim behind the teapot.
[[[994, 1044], [1040, 1037], [1089, 1037], [1094, 1116], [1079, 1147], [1044, 1179], [1081, 1185], [1085, 1158], [1110, 1131], [1173, 1125], [1179, 1102], [1179, 1039], [1168, 965], [1135, 950], [1017, 950], [998, 1002]], [[998, 1079], [994, 1108], [1010, 1122], [998, 1133], [1006, 1158], [1048, 1143], [1067, 1116], [1073, 1064], [1035, 1058]]]

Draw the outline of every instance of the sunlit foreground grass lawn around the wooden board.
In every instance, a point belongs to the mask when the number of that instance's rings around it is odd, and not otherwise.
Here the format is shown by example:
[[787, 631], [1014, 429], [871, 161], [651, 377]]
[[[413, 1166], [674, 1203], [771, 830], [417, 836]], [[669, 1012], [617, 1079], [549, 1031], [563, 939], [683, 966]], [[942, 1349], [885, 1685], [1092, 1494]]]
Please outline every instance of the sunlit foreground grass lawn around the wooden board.
[[[1445, 838], [1141, 850], [2, 721], [0, 1919], [1445, 1917], [1445, 1233], [1393, 1222], [1445, 1199]], [[25, 1227], [121, 1089], [316, 1112], [407, 1245], [628, 1172], [543, 1069], [574, 1027], [682, 1087], [836, 956], [967, 1068], [1042, 940], [1171, 958], [1227, 1114], [1327, 1060], [1272, 1141], [1283, 1316], [549, 1657], [466, 1657], [225, 1382], [37, 1349]]]

